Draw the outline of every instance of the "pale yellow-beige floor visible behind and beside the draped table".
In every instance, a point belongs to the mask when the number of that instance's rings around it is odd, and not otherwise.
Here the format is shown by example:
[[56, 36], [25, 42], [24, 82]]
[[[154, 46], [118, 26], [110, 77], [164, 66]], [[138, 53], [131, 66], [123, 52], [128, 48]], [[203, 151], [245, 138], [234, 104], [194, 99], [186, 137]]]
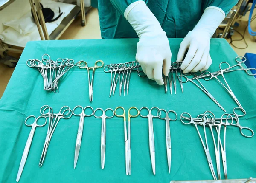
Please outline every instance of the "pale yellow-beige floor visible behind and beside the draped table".
[[[86, 25], [81, 27], [80, 25], [81, 18], [77, 18], [74, 22], [70, 25], [69, 28], [64, 32], [60, 39], [100, 39], [100, 29], [99, 29], [99, 17], [98, 17], [98, 10], [91, 9], [86, 15]], [[247, 23], [245, 21], [239, 21], [240, 26], [237, 29], [241, 33], [244, 31], [245, 26]], [[256, 21], [255, 21], [256, 22]], [[256, 23], [253, 23], [254, 30], [256, 28]], [[239, 34], [235, 34], [233, 39], [240, 39], [241, 37]], [[255, 37], [251, 37], [248, 34], [248, 31], [245, 34], [245, 39], [248, 44], [248, 48], [246, 49], [237, 49], [234, 48], [236, 53], [239, 56], [244, 56], [246, 52], [249, 53], [256, 53], [256, 41]], [[230, 41], [230, 40], [228, 40]], [[234, 42], [234, 45], [238, 47], [244, 47], [244, 43], [242, 41]], [[8, 68], [6, 65], [0, 64], [0, 97], [3, 95], [3, 92], [6, 88], [6, 85], [9, 82], [10, 77], [12, 76], [14, 68]]]

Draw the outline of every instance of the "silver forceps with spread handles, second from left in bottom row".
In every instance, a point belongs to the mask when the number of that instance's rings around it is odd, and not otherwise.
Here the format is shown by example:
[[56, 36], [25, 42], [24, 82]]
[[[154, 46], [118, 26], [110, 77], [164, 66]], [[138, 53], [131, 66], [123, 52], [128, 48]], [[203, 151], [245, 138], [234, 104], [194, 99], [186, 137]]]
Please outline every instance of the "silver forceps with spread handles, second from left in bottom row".
[[[41, 107], [40, 113], [43, 116], [49, 117], [49, 125], [48, 125], [47, 135], [44, 141], [44, 148], [43, 148], [42, 155], [39, 162], [39, 167], [43, 166], [47, 149], [49, 147], [49, 143], [52, 138], [52, 134], [55, 128], [57, 127], [58, 122], [60, 121], [61, 118], [68, 119], [73, 114], [72, 110], [68, 106], [63, 106], [61, 107], [58, 113], [53, 113], [52, 107], [49, 107], [48, 105], [44, 105], [43, 107]], [[55, 118], [54, 121], [53, 121], [53, 118]]]

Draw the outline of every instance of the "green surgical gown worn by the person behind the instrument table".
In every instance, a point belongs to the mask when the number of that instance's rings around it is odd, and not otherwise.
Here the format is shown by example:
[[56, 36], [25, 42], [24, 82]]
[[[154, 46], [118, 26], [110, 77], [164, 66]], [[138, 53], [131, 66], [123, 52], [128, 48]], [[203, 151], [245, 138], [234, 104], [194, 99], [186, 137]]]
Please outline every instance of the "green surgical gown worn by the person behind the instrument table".
[[[125, 9], [137, 0], [98, 0], [102, 38], [137, 38], [124, 17]], [[169, 38], [183, 38], [209, 6], [221, 8], [225, 14], [238, 0], [144, 0]]]

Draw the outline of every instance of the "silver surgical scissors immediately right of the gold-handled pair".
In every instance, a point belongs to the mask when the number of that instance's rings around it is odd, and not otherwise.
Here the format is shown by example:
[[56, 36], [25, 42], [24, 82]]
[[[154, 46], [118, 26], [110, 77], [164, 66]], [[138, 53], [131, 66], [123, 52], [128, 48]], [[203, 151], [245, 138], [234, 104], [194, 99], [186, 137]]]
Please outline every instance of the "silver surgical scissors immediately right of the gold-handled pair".
[[[148, 115], [142, 115], [141, 110], [148, 110]], [[153, 115], [151, 112], [153, 109], [157, 109], [157, 115]], [[155, 164], [155, 147], [154, 147], [154, 130], [153, 130], [153, 118], [158, 118], [161, 115], [161, 111], [158, 107], [152, 107], [151, 110], [148, 107], [141, 107], [139, 114], [143, 118], [148, 118], [148, 137], [149, 137], [149, 150], [151, 158], [151, 166], [153, 174], [156, 174], [156, 164]]]

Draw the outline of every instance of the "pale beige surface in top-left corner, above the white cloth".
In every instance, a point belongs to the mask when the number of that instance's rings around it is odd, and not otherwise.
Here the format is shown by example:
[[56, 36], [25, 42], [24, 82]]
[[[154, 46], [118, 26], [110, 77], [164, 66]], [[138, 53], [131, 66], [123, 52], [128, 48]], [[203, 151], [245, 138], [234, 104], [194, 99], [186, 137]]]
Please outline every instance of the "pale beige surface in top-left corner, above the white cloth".
[[30, 10], [29, 0], [15, 0], [12, 4], [0, 11], [0, 33], [6, 29], [4, 22], [22, 17]]

